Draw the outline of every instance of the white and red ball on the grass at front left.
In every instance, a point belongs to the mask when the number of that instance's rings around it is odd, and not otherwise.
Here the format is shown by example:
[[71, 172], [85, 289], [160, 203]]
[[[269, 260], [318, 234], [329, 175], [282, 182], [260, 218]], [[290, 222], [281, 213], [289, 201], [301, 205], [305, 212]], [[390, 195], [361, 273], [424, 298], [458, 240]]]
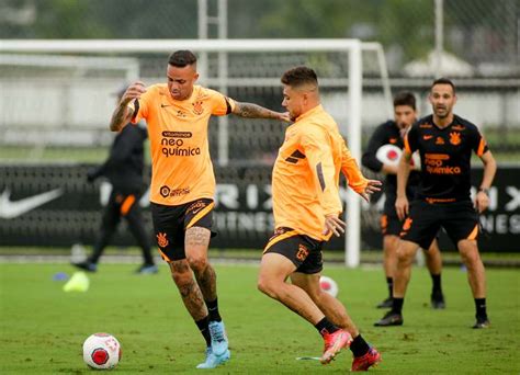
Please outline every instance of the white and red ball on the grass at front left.
[[110, 370], [121, 360], [121, 345], [110, 333], [91, 334], [83, 342], [83, 361], [95, 370]]

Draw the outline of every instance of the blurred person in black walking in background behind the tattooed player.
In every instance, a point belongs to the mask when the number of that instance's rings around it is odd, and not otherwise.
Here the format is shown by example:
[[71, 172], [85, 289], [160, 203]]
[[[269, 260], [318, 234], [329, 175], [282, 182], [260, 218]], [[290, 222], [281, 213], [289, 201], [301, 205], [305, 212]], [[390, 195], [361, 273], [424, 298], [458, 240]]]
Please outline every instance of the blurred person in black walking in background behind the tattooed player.
[[[117, 92], [117, 101], [121, 100], [125, 91], [126, 86]], [[136, 273], [151, 274], [158, 272], [151, 257], [149, 235], [143, 227], [143, 215], [139, 208], [139, 198], [145, 186], [143, 170], [145, 168], [144, 143], [146, 139], [146, 128], [143, 128], [140, 124], [139, 126], [124, 127], [114, 138], [106, 161], [87, 173], [88, 182], [105, 177], [112, 184], [112, 192], [103, 212], [92, 254], [86, 261], [72, 263], [72, 265], [88, 272], [95, 272], [105, 247], [116, 231], [121, 219], [125, 218], [129, 231], [143, 251], [144, 263], [137, 269]]]

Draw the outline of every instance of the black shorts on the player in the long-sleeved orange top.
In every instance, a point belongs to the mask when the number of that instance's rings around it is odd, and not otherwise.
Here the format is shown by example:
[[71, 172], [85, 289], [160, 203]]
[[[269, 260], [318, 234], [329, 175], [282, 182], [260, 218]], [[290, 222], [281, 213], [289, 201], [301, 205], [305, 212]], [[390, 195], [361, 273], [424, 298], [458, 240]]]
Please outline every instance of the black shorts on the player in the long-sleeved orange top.
[[275, 252], [284, 255], [296, 266], [295, 272], [318, 273], [324, 269], [321, 248], [324, 242], [299, 235], [291, 228], [276, 228], [269, 239], [263, 253]]

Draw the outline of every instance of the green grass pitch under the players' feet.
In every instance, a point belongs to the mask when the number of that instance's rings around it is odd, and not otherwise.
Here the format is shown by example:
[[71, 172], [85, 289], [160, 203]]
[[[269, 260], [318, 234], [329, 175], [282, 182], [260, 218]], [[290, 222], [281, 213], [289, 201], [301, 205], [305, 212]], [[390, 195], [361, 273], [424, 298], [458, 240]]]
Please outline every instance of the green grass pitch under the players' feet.
[[[87, 293], [64, 293], [57, 272], [65, 264], [0, 264], [2, 374], [88, 374], [83, 340], [111, 332], [123, 357], [117, 374], [197, 373], [204, 343], [184, 310], [166, 266], [158, 275], [132, 274], [135, 264], [102, 264], [89, 275]], [[256, 265], [217, 265], [219, 305], [231, 346], [231, 361], [219, 374], [344, 373], [351, 354], [329, 366], [296, 361], [320, 354], [316, 330], [256, 288]], [[373, 306], [385, 295], [380, 268], [326, 268], [340, 286], [339, 298], [363, 337], [383, 354], [374, 373], [384, 374], [519, 374], [520, 273], [488, 270], [491, 328], [472, 330], [474, 306], [466, 274], [443, 271], [448, 308], [429, 308], [430, 281], [416, 269], [405, 303], [405, 326], [375, 328], [382, 316]]]

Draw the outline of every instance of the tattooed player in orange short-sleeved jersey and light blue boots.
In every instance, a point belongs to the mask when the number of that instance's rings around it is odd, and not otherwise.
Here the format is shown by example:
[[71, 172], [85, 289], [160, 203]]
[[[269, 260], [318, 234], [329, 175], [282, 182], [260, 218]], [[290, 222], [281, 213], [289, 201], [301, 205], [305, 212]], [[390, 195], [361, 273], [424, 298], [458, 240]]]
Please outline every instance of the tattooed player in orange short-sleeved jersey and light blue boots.
[[118, 132], [127, 122], [142, 118], [148, 124], [157, 243], [206, 341], [206, 360], [197, 368], [213, 368], [228, 361], [230, 353], [218, 311], [216, 275], [207, 259], [215, 193], [207, 140], [210, 117], [233, 113], [289, 121], [289, 115], [196, 86], [196, 57], [190, 50], [171, 54], [166, 73], [167, 83], [132, 84], [115, 109], [110, 128]]

